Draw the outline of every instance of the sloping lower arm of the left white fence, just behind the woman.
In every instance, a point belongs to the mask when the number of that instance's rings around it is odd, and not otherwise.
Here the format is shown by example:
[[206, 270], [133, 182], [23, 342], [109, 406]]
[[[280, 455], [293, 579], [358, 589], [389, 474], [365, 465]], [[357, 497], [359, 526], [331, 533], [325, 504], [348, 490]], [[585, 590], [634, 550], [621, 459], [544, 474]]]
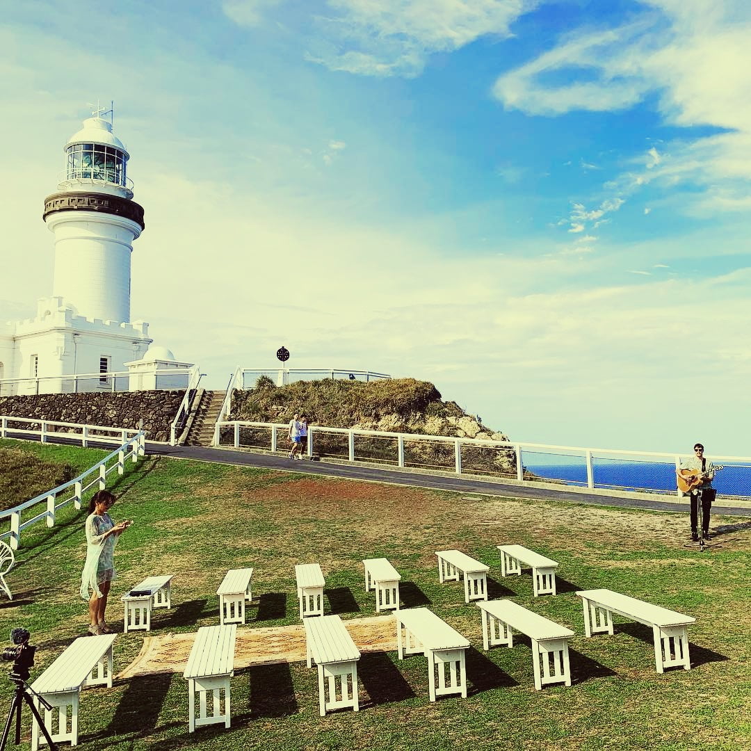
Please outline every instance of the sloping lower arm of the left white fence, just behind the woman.
[[[91, 426], [78, 427], [83, 427], [85, 429]], [[41, 433], [41, 431], [37, 432]], [[86, 490], [89, 490], [94, 485], [98, 485], [98, 490], [104, 490], [104, 488], [107, 487], [107, 475], [110, 472], [112, 472], [114, 469], [117, 469], [118, 475], [124, 474], [125, 460], [132, 457], [133, 463], [136, 463], [138, 461], [138, 457], [143, 457], [145, 454], [146, 433], [144, 433], [143, 430], [139, 430], [132, 438], [122, 442], [122, 445], [120, 445], [119, 448], [116, 448], [110, 454], [107, 454], [104, 459], [101, 459], [94, 466], [86, 469], [86, 471], [82, 472], [80, 475], [78, 475], [78, 477], [63, 483], [62, 485], [58, 485], [58, 487], [53, 487], [52, 490], [47, 490], [44, 493], [40, 493], [38, 496], [35, 496], [35, 498], [24, 501], [23, 503], [14, 506], [14, 508], [9, 508], [7, 511], [0, 512], [0, 519], [10, 518], [11, 520], [10, 531], [0, 534], [0, 539], [9, 537], [11, 548], [13, 550], [17, 550], [20, 544], [21, 532], [23, 531], [23, 529], [26, 529], [27, 526], [31, 526], [32, 524], [35, 524], [42, 519], [47, 520], [47, 526], [55, 526], [55, 513], [58, 508], [62, 508], [62, 506], [70, 503], [71, 501], [73, 501], [76, 508], [81, 508], [81, 499], [83, 498], [83, 493], [86, 493]], [[111, 459], [113, 459], [113, 457], [117, 457], [117, 460], [115, 463], [113, 463], [113, 466], [110, 466], [108, 468], [107, 463]], [[87, 485], [84, 485], [83, 481], [92, 474], [96, 474], [95, 480]], [[60, 493], [62, 493], [69, 487], [74, 488], [73, 495], [70, 498], [67, 498], [64, 501], [58, 503], [57, 496], [59, 496]], [[47, 510], [42, 511], [32, 519], [27, 519], [25, 522], [21, 523], [21, 512], [25, 511], [26, 508], [31, 508], [32, 506], [42, 502], [47, 504]]]

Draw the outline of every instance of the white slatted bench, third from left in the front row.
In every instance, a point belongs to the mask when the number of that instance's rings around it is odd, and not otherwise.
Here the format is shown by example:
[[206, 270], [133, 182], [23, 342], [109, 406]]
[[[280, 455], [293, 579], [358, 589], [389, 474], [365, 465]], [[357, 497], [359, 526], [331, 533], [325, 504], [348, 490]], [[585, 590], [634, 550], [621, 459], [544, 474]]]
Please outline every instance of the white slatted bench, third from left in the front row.
[[[318, 708], [326, 710], [351, 707], [360, 710], [357, 688], [357, 649], [338, 615], [306, 618], [305, 645], [308, 667], [318, 665]], [[337, 681], [338, 679], [338, 681]], [[338, 685], [337, 685], [338, 683]]]

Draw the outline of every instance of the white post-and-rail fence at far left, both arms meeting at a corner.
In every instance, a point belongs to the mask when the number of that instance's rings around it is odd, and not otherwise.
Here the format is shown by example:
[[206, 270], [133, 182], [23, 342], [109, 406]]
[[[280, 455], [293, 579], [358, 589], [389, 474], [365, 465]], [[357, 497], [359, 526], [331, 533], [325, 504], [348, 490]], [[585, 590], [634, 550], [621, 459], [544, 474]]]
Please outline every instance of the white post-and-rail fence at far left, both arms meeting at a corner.
[[[33, 430], [32, 428], [25, 428], [23, 430], [17, 430], [13, 427], [14, 424], [20, 422], [21, 424], [41, 423], [40, 430]], [[8, 425], [11, 427], [8, 427]], [[5, 438], [8, 433], [17, 435], [23, 433], [29, 436], [38, 436], [38, 438], [45, 442], [50, 436], [64, 436], [65, 438], [80, 439], [81, 445], [87, 446], [89, 442], [119, 442], [121, 445], [116, 448], [111, 454], [107, 454], [104, 459], [98, 461], [94, 466], [86, 469], [86, 472], [78, 475], [74, 478], [58, 487], [54, 487], [52, 490], [47, 490], [45, 493], [36, 496], [14, 508], [9, 508], [8, 511], [0, 512], [0, 525], [5, 525], [2, 520], [10, 520], [10, 530], [3, 534], [0, 534], [0, 539], [8, 541], [8, 544], [17, 550], [20, 544], [21, 532], [32, 524], [35, 524], [41, 520], [47, 520], [47, 526], [55, 526], [55, 514], [58, 508], [67, 505], [71, 501], [75, 508], [81, 508], [81, 499], [83, 494], [87, 490], [91, 490], [96, 487], [96, 490], [104, 490], [107, 487], [107, 475], [110, 472], [117, 472], [118, 475], [122, 475], [125, 472], [125, 462], [130, 459], [133, 463], [136, 463], [140, 457], [146, 454], [146, 433], [143, 430], [125, 430], [121, 428], [101, 427], [98, 425], [79, 425], [74, 423], [62, 423], [50, 420], [31, 420], [27, 418], [14, 418], [8, 416], [0, 417], [0, 437]], [[68, 427], [74, 429], [71, 432], [59, 432], [50, 430], [50, 427]], [[78, 429], [78, 430], [76, 430]], [[110, 433], [107, 436], [107, 432]], [[102, 435], [104, 433], [104, 435]], [[130, 437], [128, 437], [130, 436]], [[92, 478], [93, 477], [93, 478]], [[88, 482], [87, 480], [90, 479]], [[61, 496], [65, 496], [71, 491], [72, 495], [59, 500]], [[32, 508], [36, 505], [41, 505], [44, 511], [40, 511], [35, 516], [21, 520], [23, 511], [28, 508]]]

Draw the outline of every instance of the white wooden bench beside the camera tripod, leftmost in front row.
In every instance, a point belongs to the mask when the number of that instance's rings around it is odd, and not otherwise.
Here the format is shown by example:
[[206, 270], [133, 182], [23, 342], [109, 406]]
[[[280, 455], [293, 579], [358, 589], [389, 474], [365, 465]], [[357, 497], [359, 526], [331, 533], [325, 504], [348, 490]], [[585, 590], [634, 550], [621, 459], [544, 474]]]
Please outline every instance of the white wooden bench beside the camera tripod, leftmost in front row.
[[[78, 745], [78, 703], [81, 689], [85, 686], [112, 688], [112, 644], [116, 634], [82, 636], [77, 638], [32, 683], [32, 689], [40, 694], [52, 710], [45, 709], [35, 698], [40, 713], [44, 713], [44, 725], [53, 742], [70, 740]], [[39, 744], [47, 744], [40, 735], [38, 722], [32, 717], [32, 751]]]

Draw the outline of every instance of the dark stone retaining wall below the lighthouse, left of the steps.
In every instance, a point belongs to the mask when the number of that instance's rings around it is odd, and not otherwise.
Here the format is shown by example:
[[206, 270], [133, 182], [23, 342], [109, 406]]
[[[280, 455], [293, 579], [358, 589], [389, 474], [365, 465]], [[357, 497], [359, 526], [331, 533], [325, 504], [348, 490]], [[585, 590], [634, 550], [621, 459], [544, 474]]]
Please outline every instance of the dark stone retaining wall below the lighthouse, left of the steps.
[[0, 397], [0, 415], [126, 428], [137, 428], [143, 419], [147, 439], [168, 441], [184, 394], [181, 389]]

